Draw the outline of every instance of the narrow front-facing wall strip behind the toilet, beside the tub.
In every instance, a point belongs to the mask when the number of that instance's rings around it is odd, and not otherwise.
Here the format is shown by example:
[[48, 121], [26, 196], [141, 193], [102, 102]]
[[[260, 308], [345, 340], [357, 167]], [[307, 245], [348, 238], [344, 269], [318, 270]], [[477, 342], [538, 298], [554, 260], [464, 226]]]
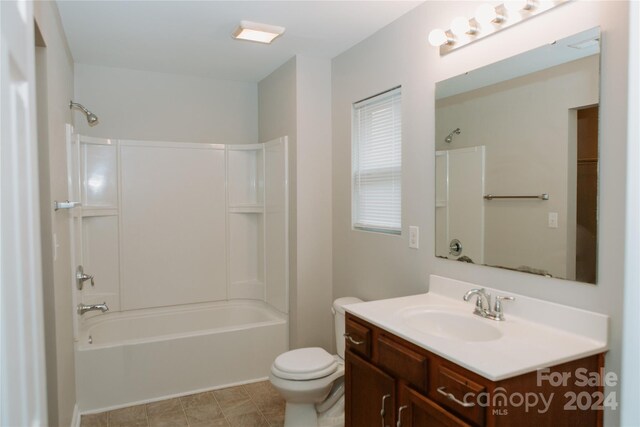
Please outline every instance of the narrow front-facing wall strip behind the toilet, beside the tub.
[[331, 296], [331, 61], [298, 56], [296, 345], [334, 347]]

